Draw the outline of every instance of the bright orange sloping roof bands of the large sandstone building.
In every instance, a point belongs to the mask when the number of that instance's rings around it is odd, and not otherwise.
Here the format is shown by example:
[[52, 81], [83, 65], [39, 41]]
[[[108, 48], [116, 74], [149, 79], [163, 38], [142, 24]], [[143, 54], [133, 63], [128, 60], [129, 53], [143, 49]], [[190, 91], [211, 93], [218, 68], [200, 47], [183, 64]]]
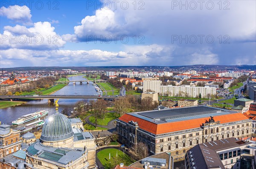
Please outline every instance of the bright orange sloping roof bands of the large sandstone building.
[[[204, 117], [204, 118], [192, 119], [192, 120], [186, 120], [186, 121], [156, 124], [156, 123], [149, 122], [147, 120], [140, 119], [139, 117], [134, 117], [129, 114], [125, 114], [119, 118], [119, 120], [122, 120], [126, 123], [133, 120], [134, 122], [138, 123], [141, 129], [151, 132], [155, 135], [169, 133], [169, 132], [177, 132], [180, 130], [199, 128], [200, 125], [202, 125], [202, 123], [205, 123], [205, 120], [208, 120], [208, 119], [209, 117]], [[214, 120], [220, 121], [220, 123], [230, 123], [234, 121], [247, 120], [247, 119], [248, 118], [241, 113], [214, 116]]]

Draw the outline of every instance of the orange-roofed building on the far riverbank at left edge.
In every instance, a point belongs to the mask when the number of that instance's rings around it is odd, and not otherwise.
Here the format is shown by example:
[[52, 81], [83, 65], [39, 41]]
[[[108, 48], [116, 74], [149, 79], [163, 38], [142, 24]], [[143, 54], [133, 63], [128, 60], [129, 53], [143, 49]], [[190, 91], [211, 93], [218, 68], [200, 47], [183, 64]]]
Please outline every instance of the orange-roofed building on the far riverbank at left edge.
[[18, 79], [12, 74], [8, 80], [3, 81], [0, 84], [0, 93], [6, 94], [7, 92], [14, 92], [17, 89], [21, 90], [23, 88], [26, 88], [27, 86], [29, 86], [29, 80]]

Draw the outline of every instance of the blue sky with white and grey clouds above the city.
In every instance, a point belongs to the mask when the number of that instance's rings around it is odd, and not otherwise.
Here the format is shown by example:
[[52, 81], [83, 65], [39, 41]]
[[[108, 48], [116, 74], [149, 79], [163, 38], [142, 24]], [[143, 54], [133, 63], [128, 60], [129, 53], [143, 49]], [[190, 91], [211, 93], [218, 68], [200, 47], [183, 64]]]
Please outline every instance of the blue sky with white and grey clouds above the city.
[[256, 64], [256, 1], [0, 1], [0, 68]]

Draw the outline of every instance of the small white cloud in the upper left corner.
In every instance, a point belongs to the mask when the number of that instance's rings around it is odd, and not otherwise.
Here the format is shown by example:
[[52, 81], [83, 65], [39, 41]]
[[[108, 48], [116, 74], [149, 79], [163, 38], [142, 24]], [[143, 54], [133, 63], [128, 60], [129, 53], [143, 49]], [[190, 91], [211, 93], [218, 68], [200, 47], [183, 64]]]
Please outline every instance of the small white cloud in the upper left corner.
[[27, 6], [9, 6], [1, 7], [0, 9], [0, 15], [6, 16], [10, 20], [14, 20], [18, 23], [23, 23], [25, 25], [30, 25], [32, 23], [30, 14], [30, 9]]

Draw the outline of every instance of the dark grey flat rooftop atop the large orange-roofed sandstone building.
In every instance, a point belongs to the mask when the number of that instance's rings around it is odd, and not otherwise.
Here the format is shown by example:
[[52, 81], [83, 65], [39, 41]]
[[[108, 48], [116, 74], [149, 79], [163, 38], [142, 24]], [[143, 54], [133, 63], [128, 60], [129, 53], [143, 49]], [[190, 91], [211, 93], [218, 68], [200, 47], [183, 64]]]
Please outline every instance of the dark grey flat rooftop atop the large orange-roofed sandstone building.
[[134, 114], [134, 115], [137, 114], [137, 115], [149, 118], [151, 120], [154, 119], [157, 121], [161, 121], [161, 120], [172, 120], [172, 119], [177, 119], [181, 117], [192, 117], [192, 116], [198, 116], [198, 115], [214, 115], [214, 114], [219, 114], [224, 112], [232, 113], [234, 111], [208, 107], [208, 106], [190, 106], [190, 107], [182, 107], [182, 108], [176, 108], [176, 109], [163, 109], [163, 110], [154, 110], [154, 111], [147, 111], [147, 112], [130, 113], [130, 114]]

